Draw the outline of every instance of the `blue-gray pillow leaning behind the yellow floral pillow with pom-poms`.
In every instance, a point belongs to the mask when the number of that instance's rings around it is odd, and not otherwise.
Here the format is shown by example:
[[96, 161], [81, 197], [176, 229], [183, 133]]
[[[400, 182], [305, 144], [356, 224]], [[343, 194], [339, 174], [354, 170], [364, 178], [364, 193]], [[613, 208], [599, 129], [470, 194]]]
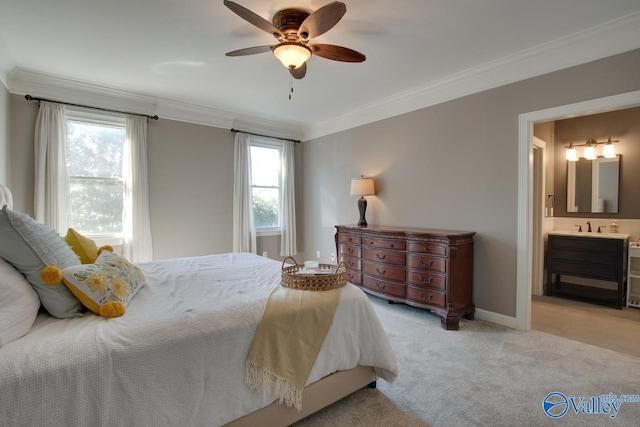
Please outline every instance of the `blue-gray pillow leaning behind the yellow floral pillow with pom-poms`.
[[49, 286], [42, 281], [41, 271], [48, 265], [62, 270], [80, 264], [78, 256], [50, 227], [3, 207], [0, 211], [0, 257], [24, 274], [49, 314], [61, 319], [82, 315], [82, 304], [64, 284]]

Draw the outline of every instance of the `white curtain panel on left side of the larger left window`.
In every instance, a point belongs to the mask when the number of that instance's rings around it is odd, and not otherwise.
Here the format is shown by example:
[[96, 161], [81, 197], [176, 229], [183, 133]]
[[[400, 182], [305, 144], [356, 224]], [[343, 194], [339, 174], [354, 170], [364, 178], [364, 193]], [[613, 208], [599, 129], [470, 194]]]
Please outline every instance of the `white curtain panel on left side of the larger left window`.
[[60, 234], [71, 223], [66, 141], [64, 105], [40, 101], [34, 137], [35, 219]]

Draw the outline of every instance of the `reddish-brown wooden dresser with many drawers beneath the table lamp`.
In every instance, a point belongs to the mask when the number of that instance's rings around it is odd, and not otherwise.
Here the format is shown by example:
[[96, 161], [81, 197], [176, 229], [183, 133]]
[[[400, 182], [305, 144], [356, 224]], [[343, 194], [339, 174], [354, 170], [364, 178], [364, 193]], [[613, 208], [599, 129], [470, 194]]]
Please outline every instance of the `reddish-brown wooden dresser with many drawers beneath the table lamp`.
[[474, 232], [336, 225], [347, 281], [389, 300], [426, 308], [444, 329], [473, 319]]

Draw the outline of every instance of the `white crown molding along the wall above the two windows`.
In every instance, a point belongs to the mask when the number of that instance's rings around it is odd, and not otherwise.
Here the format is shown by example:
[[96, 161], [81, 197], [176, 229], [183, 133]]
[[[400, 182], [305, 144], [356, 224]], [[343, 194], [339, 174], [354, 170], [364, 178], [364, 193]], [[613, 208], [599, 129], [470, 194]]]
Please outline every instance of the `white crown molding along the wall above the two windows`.
[[302, 137], [300, 125], [153, 97], [30, 70], [13, 69], [8, 73], [7, 81], [9, 91], [17, 95], [29, 94], [88, 107], [158, 115], [162, 119], [205, 126], [242, 128], [250, 132], [266, 133], [282, 138], [300, 139]]

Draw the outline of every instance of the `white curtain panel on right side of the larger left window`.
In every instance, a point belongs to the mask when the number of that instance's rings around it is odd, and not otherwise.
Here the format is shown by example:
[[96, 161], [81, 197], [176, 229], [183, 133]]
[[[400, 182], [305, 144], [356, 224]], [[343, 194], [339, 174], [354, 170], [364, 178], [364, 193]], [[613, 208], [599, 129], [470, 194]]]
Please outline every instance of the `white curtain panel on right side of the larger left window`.
[[149, 221], [146, 117], [127, 116], [123, 157], [122, 253], [132, 262], [150, 261], [153, 259], [153, 245]]

